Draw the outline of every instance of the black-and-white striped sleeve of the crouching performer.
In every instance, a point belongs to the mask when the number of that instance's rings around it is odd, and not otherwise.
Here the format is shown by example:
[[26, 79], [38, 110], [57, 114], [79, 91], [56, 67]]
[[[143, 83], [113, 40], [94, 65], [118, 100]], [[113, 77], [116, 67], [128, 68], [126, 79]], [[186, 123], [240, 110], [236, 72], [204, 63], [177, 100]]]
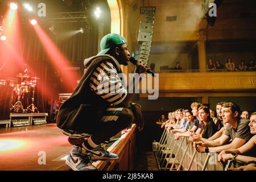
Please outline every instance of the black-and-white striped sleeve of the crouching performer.
[[94, 93], [110, 104], [118, 105], [127, 96], [127, 90], [110, 62], [101, 63], [90, 77], [89, 86]]

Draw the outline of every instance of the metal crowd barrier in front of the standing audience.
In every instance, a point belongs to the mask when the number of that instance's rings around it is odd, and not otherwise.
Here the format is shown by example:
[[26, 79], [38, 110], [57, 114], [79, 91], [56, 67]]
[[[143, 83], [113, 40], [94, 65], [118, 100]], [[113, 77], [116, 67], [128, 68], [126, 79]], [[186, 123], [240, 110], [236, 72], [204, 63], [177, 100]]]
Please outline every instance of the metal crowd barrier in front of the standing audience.
[[223, 171], [222, 164], [218, 163], [217, 153], [199, 153], [189, 141], [188, 137], [174, 139], [174, 134], [164, 130], [154, 154], [160, 170], [186, 171]]

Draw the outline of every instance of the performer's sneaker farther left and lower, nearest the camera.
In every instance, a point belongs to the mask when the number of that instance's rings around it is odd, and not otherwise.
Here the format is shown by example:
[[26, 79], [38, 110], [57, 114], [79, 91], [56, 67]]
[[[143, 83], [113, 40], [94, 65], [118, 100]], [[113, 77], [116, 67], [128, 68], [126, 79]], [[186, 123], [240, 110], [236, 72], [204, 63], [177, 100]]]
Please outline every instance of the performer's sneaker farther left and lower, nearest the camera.
[[91, 157], [87, 154], [82, 154], [82, 148], [75, 146], [68, 154], [66, 164], [73, 171], [97, 171], [97, 168], [90, 162]]

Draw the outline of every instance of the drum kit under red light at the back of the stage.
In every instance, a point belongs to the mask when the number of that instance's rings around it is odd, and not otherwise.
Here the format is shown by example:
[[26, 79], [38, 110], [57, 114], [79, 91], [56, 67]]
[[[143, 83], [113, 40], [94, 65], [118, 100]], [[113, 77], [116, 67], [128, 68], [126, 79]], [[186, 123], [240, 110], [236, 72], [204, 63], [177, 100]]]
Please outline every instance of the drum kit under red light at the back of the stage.
[[[16, 75], [18, 79], [6, 79], [0, 80], [0, 85], [8, 85], [13, 87], [14, 96], [16, 96], [17, 101], [14, 105], [11, 105], [10, 111], [12, 113], [38, 113], [38, 108], [34, 104], [35, 100], [35, 86], [38, 77], [30, 77], [26, 73], [19, 73]], [[26, 93], [31, 93], [32, 90], [32, 103], [24, 109], [22, 105], [22, 100]]]

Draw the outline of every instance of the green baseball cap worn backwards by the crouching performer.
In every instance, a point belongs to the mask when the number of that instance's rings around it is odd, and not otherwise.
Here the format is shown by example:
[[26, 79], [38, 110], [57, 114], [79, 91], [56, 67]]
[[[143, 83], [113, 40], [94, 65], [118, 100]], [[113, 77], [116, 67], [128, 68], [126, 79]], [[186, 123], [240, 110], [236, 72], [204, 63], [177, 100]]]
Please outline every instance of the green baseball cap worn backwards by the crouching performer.
[[110, 48], [116, 45], [127, 43], [123, 36], [118, 34], [108, 34], [101, 39], [101, 51], [97, 55], [105, 55]]

